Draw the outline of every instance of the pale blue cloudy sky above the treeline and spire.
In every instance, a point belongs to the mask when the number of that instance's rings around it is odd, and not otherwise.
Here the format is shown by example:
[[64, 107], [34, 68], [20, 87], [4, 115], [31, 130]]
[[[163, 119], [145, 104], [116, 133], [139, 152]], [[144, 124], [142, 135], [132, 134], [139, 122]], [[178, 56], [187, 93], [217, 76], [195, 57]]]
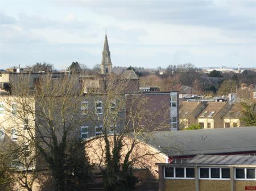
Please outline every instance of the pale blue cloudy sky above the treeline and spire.
[[0, 0], [0, 69], [47, 62], [256, 67], [256, 0]]

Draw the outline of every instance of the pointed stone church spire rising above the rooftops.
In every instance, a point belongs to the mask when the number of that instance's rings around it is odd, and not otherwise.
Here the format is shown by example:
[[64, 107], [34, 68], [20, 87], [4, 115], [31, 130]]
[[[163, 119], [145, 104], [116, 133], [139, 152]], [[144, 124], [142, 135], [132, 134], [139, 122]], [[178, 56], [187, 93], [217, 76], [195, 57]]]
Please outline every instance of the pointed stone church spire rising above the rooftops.
[[102, 51], [101, 74], [112, 73], [112, 62], [110, 58], [108, 37], [105, 35], [105, 42]]

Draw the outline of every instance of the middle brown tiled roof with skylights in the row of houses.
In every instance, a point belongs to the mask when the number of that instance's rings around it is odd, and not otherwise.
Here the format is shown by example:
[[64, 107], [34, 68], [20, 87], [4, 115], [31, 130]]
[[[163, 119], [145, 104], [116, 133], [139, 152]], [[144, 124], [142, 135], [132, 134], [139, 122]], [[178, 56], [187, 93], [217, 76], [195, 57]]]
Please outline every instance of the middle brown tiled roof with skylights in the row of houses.
[[[228, 103], [217, 102], [217, 101], [208, 101], [205, 109], [199, 114], [199, 117], [200, 118], [213, 118], [226, 104], [228, 104]], [[210, 115], [210, 112], [212, 112], [211, 115]], [[228, 110], [226, 112], [228, 112]]]

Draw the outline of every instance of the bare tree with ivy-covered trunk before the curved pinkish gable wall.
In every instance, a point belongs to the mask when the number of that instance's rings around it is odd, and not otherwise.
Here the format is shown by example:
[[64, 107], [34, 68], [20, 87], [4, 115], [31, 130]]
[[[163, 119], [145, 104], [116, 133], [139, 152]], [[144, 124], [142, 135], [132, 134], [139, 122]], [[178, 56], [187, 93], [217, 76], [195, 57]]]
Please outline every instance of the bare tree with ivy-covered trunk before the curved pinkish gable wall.
[[[166, 113], [160, 113], [162, 109], [152, 112], [151, 102], [146, 95], [122, 93], [129, 87], [129, 83], [129, 80], [109, 76], [104, 94], [90, 94], [87, 97], [95, 103], [93, 111], [88, 110], [88, 117], [93, 125], [102, 125], [103, 129], [96, 138], [96, 143], [95, 139], [89, 139], [86, 145], [89, 146], [88, 153], [93, 152], [97, 158], [98, 167], [104, 175], [105, 190], [134, 188], [137, 179], [133, 174], [133, 167], [148, 167], [146, 156], [158, 154], [147, 148], [137, 152], [139, 147], [154, 131], [168, 126], [167, 121], [158, 121], [158, 117]], [[154, 107], [154, 104], [151, 105]]]

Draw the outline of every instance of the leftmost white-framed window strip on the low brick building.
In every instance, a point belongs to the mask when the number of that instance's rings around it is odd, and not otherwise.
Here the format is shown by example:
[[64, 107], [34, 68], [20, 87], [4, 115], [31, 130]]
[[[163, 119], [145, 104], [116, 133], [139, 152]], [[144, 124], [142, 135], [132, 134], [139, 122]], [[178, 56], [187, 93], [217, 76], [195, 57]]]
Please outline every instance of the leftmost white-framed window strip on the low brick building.
[[164, 167], [164, 177], [167, 179], [194, 179], [195, 169], [192, 167]]

